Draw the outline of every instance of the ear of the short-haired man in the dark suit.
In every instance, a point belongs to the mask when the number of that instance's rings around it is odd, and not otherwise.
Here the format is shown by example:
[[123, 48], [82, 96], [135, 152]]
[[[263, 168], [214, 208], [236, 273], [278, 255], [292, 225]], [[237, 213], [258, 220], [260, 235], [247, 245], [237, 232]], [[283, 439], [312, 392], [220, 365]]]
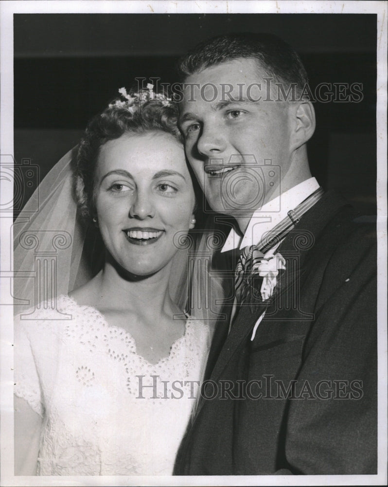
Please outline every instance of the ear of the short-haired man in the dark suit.
[[315, 131], [315, 110], [311, 101], [301, 101], [291, 105], [293, 150], [305, 144]]

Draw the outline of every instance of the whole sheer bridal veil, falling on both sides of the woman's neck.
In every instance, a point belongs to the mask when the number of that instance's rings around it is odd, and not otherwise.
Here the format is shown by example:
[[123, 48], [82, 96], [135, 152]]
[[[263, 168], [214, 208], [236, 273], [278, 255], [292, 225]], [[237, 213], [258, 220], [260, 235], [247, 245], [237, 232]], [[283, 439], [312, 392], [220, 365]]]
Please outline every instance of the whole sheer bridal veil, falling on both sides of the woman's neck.
[[[56, 309], [56, 297], [86, 283], [102, 266], [103, 247], [93, 225], [77, 213], [70, 150], [51, 169], [14, 223], [14, 308], [30, 309], [33, 319], [40, 302]], [[224, 296], [222, 279], [210, 278], [212, 254], [220, 238], [212, 229], [177, 235], [178, 251], [170, 278], [171, 298], [180, 309], [207, 322], [217, 318]], [[58, 319], [67, 319], [58, 312]]]

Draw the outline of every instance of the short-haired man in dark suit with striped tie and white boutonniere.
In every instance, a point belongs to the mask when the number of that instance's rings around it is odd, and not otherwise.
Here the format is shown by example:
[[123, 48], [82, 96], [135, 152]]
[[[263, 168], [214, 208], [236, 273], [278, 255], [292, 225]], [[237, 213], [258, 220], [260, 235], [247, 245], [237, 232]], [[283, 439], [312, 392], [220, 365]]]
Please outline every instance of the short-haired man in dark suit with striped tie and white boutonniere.
[[376, 473], [375, 227], [311, 176], [300, 58], [227, 35], [179, 69], [186, 154], [237, 257], [175, 473]]

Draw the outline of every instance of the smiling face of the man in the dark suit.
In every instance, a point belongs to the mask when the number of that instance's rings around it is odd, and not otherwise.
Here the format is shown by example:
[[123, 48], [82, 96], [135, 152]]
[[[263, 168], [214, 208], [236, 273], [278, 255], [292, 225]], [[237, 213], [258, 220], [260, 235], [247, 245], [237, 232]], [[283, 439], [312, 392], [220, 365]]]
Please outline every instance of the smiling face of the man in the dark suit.
[[288, 104], [274, 101], [265, 77], [253, 59], [211, 66], [186, 78], [180, 103], [186, 155], [207, 200], [237, 220], [279, 194], [291, 158]]

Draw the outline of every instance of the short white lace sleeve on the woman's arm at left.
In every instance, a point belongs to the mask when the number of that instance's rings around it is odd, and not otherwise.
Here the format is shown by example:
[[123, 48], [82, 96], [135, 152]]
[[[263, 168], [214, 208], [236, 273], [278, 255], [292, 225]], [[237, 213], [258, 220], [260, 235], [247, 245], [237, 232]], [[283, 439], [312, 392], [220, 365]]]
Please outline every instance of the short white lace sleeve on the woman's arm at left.
[[42, 416], [43, 405], [35, 358], [25, 325], [19, 315], [14, 320], [14, 354], [15, 395], [25, 399], [31, 408]]

